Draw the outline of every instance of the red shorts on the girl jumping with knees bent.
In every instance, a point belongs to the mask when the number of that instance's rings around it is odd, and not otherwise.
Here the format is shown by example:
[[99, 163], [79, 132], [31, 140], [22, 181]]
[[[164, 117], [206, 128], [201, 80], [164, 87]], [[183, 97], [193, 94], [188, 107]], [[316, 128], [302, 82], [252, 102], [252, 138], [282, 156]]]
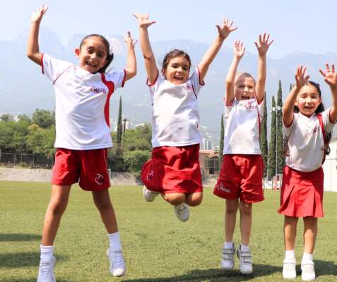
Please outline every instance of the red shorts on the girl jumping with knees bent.
[[155, 147], [141, 171], [149, 190], [167, 193], [202, 192], [199, 144]]

